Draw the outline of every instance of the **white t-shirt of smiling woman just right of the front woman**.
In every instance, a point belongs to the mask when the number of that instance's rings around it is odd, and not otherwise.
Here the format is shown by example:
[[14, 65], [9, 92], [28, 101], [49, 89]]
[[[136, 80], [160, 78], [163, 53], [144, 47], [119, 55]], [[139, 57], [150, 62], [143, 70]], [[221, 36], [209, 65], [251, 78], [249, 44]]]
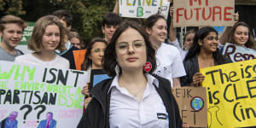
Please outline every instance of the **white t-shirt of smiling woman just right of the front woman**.
[[176, 47], [162, 43], [159, 49], [156, 50], [155, 58], [157, 67], [154, 73], [160, 77], [169, 79], [171, 84], [172, 78], [180, 78], [186, 75], [183, 61]]

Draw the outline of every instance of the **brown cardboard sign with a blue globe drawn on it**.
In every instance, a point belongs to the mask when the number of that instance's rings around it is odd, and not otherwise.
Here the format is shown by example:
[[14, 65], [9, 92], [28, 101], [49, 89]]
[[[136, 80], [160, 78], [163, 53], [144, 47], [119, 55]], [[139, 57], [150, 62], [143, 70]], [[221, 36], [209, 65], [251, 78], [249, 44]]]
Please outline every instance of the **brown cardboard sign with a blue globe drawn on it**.
[[207, 90], [203, 87], [174, 87], [175, 97], [183, 124], [207, 127]]

